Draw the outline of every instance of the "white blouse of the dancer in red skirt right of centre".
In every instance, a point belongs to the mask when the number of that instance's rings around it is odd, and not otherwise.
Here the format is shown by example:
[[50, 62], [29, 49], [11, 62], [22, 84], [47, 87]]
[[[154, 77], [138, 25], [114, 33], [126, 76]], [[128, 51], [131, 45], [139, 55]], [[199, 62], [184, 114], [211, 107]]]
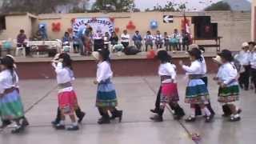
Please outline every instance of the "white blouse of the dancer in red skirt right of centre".
[[176, 81], [176, 66], [170, 62], [162, 63], [158, 68], [159, 76], [171, 76], [171, 80]]

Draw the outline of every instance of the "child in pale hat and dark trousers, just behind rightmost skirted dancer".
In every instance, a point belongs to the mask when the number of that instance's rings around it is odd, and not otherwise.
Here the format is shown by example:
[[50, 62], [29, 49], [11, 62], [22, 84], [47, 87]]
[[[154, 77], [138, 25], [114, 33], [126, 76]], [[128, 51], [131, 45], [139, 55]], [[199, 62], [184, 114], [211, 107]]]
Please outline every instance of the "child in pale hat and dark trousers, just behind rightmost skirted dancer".
[[235, 59], [237, 59], [244, 68], [240, 71], [240, 77], [238, 78], [239, 85], [242, 89], [249, 90], [250, 51], [249, 44], [247, 42], [242, 43], [242, 50], [235, 56]]

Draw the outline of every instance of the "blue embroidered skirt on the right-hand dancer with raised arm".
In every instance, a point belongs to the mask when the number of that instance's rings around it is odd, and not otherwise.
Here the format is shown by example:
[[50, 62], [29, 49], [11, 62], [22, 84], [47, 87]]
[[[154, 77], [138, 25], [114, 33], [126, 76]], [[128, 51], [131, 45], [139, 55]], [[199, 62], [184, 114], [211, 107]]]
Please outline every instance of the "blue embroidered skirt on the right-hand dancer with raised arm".
[[203, 104], [209, 101], [209, 92], [202, 79], [190, 79], [186, 86], [185, 102], [190, 104]]

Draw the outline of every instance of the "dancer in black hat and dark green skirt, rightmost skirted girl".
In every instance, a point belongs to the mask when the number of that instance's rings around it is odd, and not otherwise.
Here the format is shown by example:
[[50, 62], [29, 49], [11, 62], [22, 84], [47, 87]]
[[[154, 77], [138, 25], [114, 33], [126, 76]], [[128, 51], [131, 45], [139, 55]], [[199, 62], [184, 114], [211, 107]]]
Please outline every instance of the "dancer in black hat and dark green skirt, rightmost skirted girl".
[[236, 122], [241, 119], [237, 107], [234, 105], [234, 102], [239, 99], [238, 71], [234, 66], [234, 58], [230, 50], [222, 50], [220, 56], [222, 58], [222, 66], [219, 67], [218, 74], [214, 78], [220, 86], [218, 102], [229, 106], [232, 112], [230, 122]]

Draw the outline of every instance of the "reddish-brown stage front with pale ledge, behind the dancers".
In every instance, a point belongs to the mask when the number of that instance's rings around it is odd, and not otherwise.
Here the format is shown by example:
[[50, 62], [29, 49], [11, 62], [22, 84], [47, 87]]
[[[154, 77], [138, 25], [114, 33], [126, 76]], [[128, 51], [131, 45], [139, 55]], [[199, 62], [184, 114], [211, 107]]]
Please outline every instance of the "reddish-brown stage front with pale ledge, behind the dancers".
[[[171, 54], [176, 66], [180, 60], [190, 64], [188, 56], [184, 52]], [[212, 61], [216, 53], [205, 54], [209, 73], [216, 72], [217, 66]], [[71, 54], [74, 60], [74, 73], [77, 78], [94, 77], [96, 74], [96, 63], [92, 57], [82, 57], [78, 54]], [[158, 60], [147, 59], [146, 53], [137, 55], [118, 56], [111, 54], [111, 66], [115, 76], [145, 76], [155, 75], [158, 71]], [[18, 62], [18, 74], [22, 79], [54, 78], [54, 71], [50, 64], [52, 58], [16, 58]], [[183, 74], [183, 70], [178, 66], [178, 73]]]

